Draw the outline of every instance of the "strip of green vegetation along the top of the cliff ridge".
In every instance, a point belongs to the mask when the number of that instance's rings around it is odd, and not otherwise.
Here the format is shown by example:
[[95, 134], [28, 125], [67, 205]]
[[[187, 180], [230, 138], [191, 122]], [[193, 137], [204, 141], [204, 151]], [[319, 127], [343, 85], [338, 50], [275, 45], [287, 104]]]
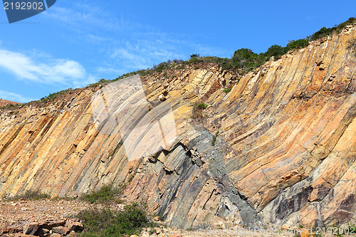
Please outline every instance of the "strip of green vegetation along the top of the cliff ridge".
[[[146, 70], [137, 70], [131, 73], [125, 73], [120, 75], [119, 77], [113, 80], [105, 80], [100, 79], [98, 83], [93, 83], [88, 85], [88, 87], [95, 87], [98, 85], [105, 85], [108, 83], [115, 82], [116, 80], [120, 80], [122, 78], [127, 78], [131, 75], [153, 75], [155, 73], [162, 73], [164, 70], [168, 69], [184, 69], [186, 65], [194, 65], [195, 69], [201, 68], [199, 65], [206, 64], [206, 63], [213, 63], [219, 65], [219, 67], [223, 68], [224, 70], [230, 70], [234, 72], [239, 77], [242, 77], [244, 74], [248, 73], [251, 70], [255, 70], [259, 68], [263, 63], [266, 63], [267, 60], [270, 60], [273, 57], [275, 60], [281, 58], [281, 56], [288, 53], [288, 51], [293, 51], [296, 49], [304, 48], [308, 46], [309, 41], [315, 41], [319, 38], [323, 38], [325, 36], [332, 36], [335, 33], [340, 33], [345, 26], [352, 25], [356, 23], [355, 18], [350, 18], [345, 22], [340, 23], [339, 25], [335, 25], [332, 28], [320, 28], [319, 31], [313, 33], [311, 36], [307, 36], [305, 38], [300, 38], [298, 40], [292, 40], [287, 43], [285, 47], [273, 45], [265, 53], [254, 53], [249, 48], [240, 48], [239, 50], [234, 52], [234, 56], [231, 58], [219, 58], [214, 56], [199, 56], [199, 54], [194, 53], [190, 56], [188, 60], [167, 60], [167, 62], [159, 63], [158, 65], [153, 65], [152, 68], [147, 68]], [[352, 44], [350, 43], [350, 47], [355, 47], [355, 42]], [[354, 49], [355, 50], [355, 49]], [[356, 53], [355, 53], [356, 56]], [[167, 73], [166, 73], [167, 74]], [[87, 87], [87, 88], [88, 88]], [[46, 102], [52, 102], [56, 100], [56, 98], [60, 98], [70, 92], [72, 89], [69, 88], [68, 90], [62, 90], [58, 93], [50, 94], [41, 100], [28, 102], [22, 105], [7, 105], [5, 107], [0, 107], [0, 110], [17, 110], [19, 107], [23, 107], [25, 105], [36, 105], [41, 107], [41, 105], [45, 104]], [[95, 90], [93, 90], [95, 91]], [[226, 91], [228, 93], [228, 91]]]

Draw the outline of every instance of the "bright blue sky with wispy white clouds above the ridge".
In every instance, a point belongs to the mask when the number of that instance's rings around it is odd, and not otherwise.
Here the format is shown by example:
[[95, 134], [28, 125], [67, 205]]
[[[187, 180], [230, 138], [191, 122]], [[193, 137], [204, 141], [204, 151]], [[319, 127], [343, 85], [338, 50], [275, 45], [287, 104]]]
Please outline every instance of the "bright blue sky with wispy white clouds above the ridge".
[[0, 9], [0, 98], [38, 100], [192, 53], [231, 58], [356, 17], [356, 1], [75, 1], [9, 24]]

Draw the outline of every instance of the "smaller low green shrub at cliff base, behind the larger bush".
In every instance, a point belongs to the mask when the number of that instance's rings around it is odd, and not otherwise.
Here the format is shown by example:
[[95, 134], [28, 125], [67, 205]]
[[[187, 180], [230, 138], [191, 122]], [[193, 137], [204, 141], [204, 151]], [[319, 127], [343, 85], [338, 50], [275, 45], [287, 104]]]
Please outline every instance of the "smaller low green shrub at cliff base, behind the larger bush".
[[[122, 186], [120, 186], [122, 188]], [[88, 201], [90, 204], [94, 203], [122, 203], [119, 199], [121, 194], [120, 188], [113, 189], [110, 185], [104, 185], [97, 191], [92, 191], [89, 194], [83, 194], [80, 199], [83, 201]]]

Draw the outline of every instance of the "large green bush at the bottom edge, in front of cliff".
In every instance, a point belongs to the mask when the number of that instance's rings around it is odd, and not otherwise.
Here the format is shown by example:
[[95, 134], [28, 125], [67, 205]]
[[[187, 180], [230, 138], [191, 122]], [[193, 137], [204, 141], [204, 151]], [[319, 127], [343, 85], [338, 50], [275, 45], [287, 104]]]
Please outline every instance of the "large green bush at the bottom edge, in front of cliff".
[[78, 218], [83, 221], [81, 236], [127, 236], [139, 234], [141, 229], [153, 226], [147, 218], [143, 204], [132, 203], [123, 211], [90, 209], [80, 211]]

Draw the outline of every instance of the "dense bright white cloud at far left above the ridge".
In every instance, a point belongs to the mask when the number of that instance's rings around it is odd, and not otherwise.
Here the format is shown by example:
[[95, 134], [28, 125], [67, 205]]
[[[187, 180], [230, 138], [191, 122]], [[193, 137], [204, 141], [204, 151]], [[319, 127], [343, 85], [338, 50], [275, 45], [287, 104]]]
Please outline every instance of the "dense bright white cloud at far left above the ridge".
[[0, 49], [0, 68], [21, 80], [31, 80], [40, 84], [77, 87], [94, 81], [93, 76], [88, 75], [80, 63], [45, 56], [44, 53], [26, 55]]

